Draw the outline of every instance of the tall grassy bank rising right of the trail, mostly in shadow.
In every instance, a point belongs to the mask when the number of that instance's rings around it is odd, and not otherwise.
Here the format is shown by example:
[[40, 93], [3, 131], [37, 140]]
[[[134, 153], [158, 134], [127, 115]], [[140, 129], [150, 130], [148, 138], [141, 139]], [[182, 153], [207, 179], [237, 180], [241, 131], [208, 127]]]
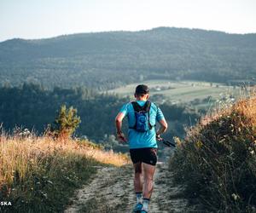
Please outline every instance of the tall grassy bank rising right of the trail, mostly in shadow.
[[256, 98], [238, 101], [189, 130], [170, 170], [206, 212], [255, 212]]

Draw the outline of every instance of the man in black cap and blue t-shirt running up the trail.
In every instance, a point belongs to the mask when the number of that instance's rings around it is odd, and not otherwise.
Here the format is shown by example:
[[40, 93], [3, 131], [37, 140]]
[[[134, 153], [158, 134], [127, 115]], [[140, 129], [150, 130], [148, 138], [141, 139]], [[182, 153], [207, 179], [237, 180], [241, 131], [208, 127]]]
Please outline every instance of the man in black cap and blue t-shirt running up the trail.
[[[133, 212], [148, 212], [148, 204], [153, 192], [153, 176], [157, 162], [157, 138], [167, 129], [166, 119], [153, 102], [148, 101], [147, 85], [138, 85], [134, 94], [136, 101], [125, 104], [115, 118], [117, 138], [127, 142], [121, 127], [127, 116], [129, 130], [128, 141], [131, 161], [134, 167], [134, 190], [137, 204]], [[155, 130], [156, 121], [160, 129]]]

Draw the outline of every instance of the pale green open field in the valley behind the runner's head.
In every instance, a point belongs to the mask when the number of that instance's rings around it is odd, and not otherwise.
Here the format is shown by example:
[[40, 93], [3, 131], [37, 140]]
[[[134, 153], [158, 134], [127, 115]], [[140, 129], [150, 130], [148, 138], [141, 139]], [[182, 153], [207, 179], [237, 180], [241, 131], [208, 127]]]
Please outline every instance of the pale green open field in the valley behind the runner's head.
[[[150, 80], [140, 82], [147, 84], [150, 89], [150, 95], [163, 95], [162, 102], [171, 101], [173, 104], [188, 103], [190, 101], [206, 99], [211, 96], [213, 101], [222, 100], [227, 96], [236, 97], [241, 93], [238, 87], [227, 86], [221, 83], [208, 83], [198, 81], [168, 81], [168, 80]], [[132, 96], [138, 83], [131, 83], [124, 87], [110, 89], [108, 93], [121, 96]], [[208, 103], [199, 103], [197, 107], [209, 107]]]

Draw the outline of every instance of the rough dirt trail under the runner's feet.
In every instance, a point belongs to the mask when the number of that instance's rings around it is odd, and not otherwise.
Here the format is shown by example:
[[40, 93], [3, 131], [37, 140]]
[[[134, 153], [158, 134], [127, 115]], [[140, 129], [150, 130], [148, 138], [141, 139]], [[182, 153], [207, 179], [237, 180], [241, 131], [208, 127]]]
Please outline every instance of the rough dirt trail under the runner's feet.
[[[78, 190], [76, 198], [65, 213], [131, 212], [135, 204], [131, 165], [122, 168], [98, 167], [97, 169], [96, 176], [88, 185]], [[172, 174], [166, 176], [166, 165], [157, 164], [149, 212], [188, 212], [185, 207], [187, 201], [181, 199], [180, 192], [180, 187], [172, 186]]]

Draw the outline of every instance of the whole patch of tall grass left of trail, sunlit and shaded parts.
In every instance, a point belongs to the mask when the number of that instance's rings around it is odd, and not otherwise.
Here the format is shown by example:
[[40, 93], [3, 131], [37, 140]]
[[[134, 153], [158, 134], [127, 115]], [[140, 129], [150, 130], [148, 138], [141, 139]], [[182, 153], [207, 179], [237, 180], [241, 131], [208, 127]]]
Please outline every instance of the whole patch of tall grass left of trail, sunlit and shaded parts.
[[56, 141], [48, 136], [0, 136], [0, 211], [60, 212], [76, 188], [96, 172], [94, 165], [127, 163], [88, 141]]

